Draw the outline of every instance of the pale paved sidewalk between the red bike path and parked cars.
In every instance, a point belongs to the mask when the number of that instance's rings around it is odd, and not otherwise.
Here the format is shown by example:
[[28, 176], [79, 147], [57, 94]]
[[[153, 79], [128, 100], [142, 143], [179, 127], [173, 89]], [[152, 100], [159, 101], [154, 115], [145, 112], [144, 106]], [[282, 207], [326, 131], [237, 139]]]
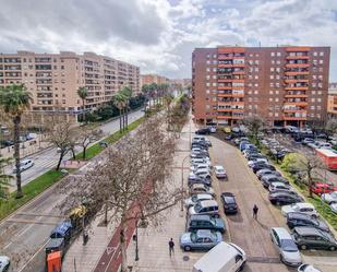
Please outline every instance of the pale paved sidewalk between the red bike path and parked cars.
[[[191, 131], [195, 131], [192, 123]], [[183, 128], [174, 155], [173, 177], [176, 187], [181, 186], [181, 164], [190, 155], [190, 125]], [[185, 161], [186, 162], [186, 161]], [[184, 177], [189, 175], [188, 162], [184, 165]], [[186, 178], [184, 178], [186, 187]], [[173, 272], [192, 271], [193, 264], [204, 252], [184, 252], [179, 247], [179, 237], [185, 229], [185, 210], [180, 211], [180, 204], [164, 213], [165, 220], [159, 226], [139, 228], [139, 257], [135, 261], [135, 241], [128, 247], [128, 263], [132, 272]], [[173, 238], [174, 255], [169, 256], [168, 241]]]

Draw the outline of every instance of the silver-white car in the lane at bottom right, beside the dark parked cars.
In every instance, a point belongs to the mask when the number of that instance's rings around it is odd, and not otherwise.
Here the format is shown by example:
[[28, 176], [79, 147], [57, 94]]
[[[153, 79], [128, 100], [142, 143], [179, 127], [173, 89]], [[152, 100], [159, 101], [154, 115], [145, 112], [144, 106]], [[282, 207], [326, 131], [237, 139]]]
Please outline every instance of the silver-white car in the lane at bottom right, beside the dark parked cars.
[[273, 244], [279, 251], [281, 262], [291, 267], [299, 267], [302, 263], [300, 251], [286, 228], [272, 227], [270, 236]]

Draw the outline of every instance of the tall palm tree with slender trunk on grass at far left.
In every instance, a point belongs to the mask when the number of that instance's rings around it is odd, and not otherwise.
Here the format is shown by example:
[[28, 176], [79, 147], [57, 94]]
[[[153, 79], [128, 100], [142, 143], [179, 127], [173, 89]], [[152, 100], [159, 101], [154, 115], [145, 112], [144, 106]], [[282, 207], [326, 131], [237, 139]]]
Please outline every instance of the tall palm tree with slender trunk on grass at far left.
[[31, 93], [24, 84], [12, 84], [0, 90], [0, 106], [4, 114], [9, 115], [14, 123], [14, 158], [16, 169], [16, 198], [22, 198], [21, 172], [20, 172], [20, 123], [24, 110], [29, 108]]

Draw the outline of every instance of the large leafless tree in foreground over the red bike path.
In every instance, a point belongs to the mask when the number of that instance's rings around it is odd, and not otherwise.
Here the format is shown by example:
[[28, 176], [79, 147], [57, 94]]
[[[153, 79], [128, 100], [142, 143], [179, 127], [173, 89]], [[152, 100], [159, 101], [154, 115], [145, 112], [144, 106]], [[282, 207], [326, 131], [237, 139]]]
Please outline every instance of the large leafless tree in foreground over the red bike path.
[[120, 223], [122, 272], [127, 272], [127, 227], [140, 218], [159, 221], [160, 212], [182, 197], [180, 189], [168, 182], [174, 142], [160, 123], [163, 117], [149, 118], [133, 135], [107, 149], [106, 162], [76, 185], [72, 182], [73, 191], [65, 200], [70, 208], [86, 199], [96, 215], [107, 216], [109, 211], [111, 217], [107, 221]]

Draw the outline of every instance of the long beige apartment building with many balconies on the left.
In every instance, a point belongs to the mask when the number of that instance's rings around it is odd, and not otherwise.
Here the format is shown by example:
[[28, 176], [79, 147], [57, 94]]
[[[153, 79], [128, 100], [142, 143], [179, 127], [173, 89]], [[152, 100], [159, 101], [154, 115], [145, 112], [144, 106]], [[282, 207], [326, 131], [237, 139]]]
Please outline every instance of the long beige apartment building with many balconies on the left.
[[32, 111], [76, 115], [82, 110], [80, 86], [88, 90], [85, 107], [96, 108], [123, 86], [139, 93], [140, 68], [94, 52], [0, 54], [0, 86], [12, 83], [24, 83], [32, 93]]

